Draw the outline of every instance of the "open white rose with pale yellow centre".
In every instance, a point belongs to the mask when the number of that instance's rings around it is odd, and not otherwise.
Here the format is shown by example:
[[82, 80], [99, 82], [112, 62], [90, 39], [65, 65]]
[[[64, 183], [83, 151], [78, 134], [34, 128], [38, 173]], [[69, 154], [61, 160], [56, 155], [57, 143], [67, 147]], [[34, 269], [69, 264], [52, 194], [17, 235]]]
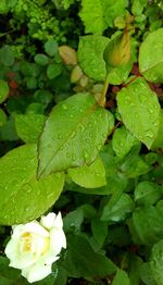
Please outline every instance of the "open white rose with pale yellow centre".
[[45, 278], [51, 273], [52, 263], [59, 259], [62, 248], [66, 248], [61, 213], [41, 216], [40, 223], [14, 225], [5, 255], [10, 267], [22, 270], [29, 283]]

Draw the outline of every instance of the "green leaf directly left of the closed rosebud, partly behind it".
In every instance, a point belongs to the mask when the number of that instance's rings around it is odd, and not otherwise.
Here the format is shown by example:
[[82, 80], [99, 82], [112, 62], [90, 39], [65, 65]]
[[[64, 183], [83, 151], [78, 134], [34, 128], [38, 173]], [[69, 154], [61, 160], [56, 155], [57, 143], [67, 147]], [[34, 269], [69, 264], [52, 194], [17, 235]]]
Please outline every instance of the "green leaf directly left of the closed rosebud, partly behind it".
[[80, 37], [78, 61], [83, 71], [96, 80], [104, 80], [106, 71], [103, 51], [109, 42], [106, 37], [89, 35]]

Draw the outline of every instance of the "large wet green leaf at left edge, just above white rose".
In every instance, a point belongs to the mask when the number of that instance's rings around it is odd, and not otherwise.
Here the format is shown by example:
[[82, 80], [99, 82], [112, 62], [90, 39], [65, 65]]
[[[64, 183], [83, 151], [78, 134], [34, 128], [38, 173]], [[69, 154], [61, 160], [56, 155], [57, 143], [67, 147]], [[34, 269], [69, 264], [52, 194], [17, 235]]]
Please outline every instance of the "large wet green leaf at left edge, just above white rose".
[[59, 198], [62, 173], [37, 181], [35, 145], [18, 147], [0, 159], [0, 224], [13, 225], [34, 220]]

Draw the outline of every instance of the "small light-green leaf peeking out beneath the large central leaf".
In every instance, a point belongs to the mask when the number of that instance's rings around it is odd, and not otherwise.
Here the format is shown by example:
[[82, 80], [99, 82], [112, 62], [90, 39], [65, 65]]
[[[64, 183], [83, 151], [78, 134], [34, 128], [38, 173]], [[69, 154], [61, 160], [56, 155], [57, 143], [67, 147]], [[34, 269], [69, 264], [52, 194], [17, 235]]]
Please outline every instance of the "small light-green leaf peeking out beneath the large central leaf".
[[76, 184], [86, 188], [98, 188], [106, 184], [102, 160], [98, 158], [90, 166], [84, 165], [68, 170], [68, 175]]

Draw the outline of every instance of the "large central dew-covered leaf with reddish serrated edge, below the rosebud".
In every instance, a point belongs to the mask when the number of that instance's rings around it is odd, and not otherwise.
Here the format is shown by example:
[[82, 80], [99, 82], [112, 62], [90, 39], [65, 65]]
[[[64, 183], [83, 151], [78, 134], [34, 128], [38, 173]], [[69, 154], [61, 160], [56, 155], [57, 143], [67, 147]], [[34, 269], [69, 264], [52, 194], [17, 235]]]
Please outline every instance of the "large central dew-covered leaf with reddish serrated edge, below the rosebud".
[[76, 94], [62, 101], [53, 108], [39, 139], [38, 175], [90, 165], [112, 127], [113, 115], [91, 95]]

